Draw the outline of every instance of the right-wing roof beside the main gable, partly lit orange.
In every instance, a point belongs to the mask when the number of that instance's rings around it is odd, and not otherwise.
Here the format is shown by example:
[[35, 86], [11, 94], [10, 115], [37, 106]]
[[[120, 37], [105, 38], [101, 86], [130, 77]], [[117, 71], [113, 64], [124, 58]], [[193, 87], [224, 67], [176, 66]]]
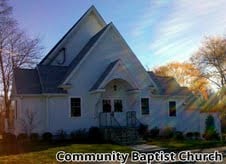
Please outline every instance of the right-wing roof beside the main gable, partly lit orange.
[[181, 87], [173, 77], [158, 76], [154, 72], [148, 73], [159, 88], [160, 95], [188, 96], [192, 94], [187, 87]]

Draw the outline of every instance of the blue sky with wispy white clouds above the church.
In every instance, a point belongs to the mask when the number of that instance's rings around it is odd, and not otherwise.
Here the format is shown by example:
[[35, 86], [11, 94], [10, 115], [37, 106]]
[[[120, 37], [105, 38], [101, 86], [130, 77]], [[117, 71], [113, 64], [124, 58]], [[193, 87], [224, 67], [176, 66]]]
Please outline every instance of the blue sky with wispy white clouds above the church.
[[185, 61], [205, 36], [226, 35], [225, 0], [11, 0], [14, 16], [39, 36], [43, 56], [91, 6], [113, 22], [145, 68]]

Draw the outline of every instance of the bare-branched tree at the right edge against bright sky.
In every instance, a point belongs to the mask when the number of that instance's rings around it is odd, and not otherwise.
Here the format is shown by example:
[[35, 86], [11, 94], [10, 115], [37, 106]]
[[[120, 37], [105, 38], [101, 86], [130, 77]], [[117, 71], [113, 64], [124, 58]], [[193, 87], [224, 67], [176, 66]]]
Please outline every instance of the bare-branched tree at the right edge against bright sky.
[[224, 37], [207, 37], [196, 54], [191, 57], [192, 63], [205, 77], [218, 88], [226, 85], [226, 39]]

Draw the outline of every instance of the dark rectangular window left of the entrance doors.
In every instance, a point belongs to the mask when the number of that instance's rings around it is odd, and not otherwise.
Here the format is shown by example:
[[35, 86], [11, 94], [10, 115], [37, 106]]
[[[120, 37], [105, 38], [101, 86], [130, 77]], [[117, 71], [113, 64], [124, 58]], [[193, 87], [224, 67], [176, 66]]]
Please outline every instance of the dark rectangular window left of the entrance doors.
[[71, 117], [81, 116], [81, 98], [71, 98]]

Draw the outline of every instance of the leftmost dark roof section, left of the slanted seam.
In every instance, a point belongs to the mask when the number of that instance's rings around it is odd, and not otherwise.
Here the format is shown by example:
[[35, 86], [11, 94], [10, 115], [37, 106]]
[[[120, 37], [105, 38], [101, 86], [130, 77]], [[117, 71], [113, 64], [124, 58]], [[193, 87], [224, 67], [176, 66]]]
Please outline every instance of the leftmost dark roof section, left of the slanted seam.
[[40, 94], [42, 88], [35, 69], [14, 69], [17, 94]]

